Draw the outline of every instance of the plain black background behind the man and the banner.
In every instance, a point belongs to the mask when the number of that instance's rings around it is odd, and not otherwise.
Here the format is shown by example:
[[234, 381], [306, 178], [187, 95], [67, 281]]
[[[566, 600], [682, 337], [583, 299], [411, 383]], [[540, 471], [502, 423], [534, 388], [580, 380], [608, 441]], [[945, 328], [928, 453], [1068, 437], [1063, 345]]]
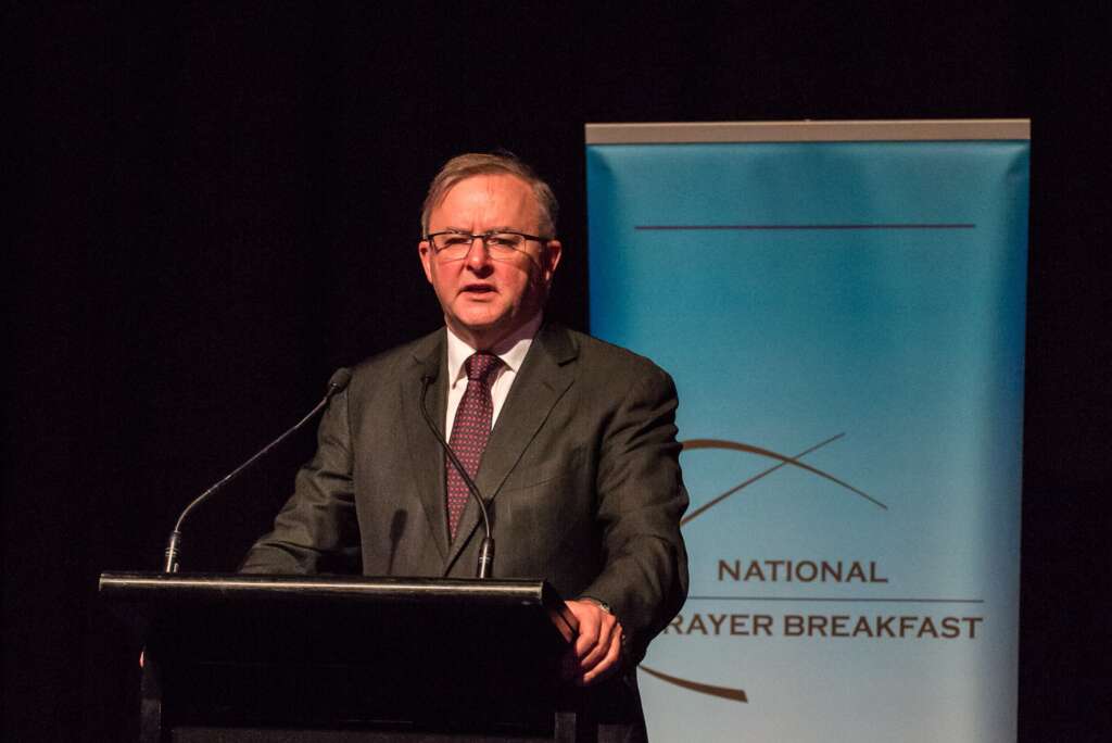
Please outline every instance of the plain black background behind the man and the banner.
[[[999, 117], [1033, 118], [1020, 739], [1103, 740], [1112, 13], [1062, 4], [9, 7], [4, 740], [135, 734], [98, 573], [156, 569], [337, 366], [438, 325], [448, 157], [553, 182], [550, 314], [585, 328], [585, 122]], [[232, 569], [311, 447], [198, 512], [186, 567]]]

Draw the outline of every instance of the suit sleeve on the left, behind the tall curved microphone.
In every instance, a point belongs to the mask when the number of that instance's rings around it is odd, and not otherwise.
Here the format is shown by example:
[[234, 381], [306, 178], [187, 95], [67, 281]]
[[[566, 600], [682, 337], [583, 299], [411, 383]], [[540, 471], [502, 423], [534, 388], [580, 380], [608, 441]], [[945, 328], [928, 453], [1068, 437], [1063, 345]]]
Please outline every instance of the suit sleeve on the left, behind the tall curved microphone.
[[317, 453], [297, 474], [274, 531], [247, 553], [242, 573], [358, 572], [359, 528], [351, 485], [348, 390], [332, 397], [317, 430]]

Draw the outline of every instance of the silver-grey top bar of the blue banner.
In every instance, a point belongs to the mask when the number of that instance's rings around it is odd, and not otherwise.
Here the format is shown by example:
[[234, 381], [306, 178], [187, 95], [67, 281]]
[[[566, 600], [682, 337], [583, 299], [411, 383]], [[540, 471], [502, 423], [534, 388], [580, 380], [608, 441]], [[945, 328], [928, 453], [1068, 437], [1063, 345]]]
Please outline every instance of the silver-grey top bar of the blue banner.
[[1031, 119], [588, 123], [588, 145], [1031, 139]]

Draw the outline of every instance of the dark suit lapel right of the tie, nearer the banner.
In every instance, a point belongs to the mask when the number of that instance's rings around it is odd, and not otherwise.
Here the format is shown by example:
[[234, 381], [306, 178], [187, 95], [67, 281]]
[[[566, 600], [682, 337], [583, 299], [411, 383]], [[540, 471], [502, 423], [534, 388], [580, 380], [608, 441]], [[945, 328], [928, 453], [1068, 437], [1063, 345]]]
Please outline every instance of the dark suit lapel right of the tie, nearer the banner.
[[[479, 463], [475, 484], [488, 503], [497, 497], [503, 483], [540, 430], [553, 406], [572, 386], [575, 369], [569, 361], [577, 353], [564, 328], [546, 325], [537, 333], [498, 414]], [[453, 563], [459, 557], [481, 519], [478, 505], [474, 499], [468, 501], [456, 538], [450, 545], [445, 575], [451, 569]]]

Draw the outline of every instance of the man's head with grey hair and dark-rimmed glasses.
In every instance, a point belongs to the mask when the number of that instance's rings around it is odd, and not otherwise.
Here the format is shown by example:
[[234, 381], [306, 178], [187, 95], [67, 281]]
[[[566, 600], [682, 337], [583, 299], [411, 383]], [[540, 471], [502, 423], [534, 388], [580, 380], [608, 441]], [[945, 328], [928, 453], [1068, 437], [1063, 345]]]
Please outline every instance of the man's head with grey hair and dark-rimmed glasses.
[[440, 169], [418, 251], [456, 335], [488, 349], [540, 311], [560, 257], [555, 218], [552, 189], [512, 156], [461, 155]]

